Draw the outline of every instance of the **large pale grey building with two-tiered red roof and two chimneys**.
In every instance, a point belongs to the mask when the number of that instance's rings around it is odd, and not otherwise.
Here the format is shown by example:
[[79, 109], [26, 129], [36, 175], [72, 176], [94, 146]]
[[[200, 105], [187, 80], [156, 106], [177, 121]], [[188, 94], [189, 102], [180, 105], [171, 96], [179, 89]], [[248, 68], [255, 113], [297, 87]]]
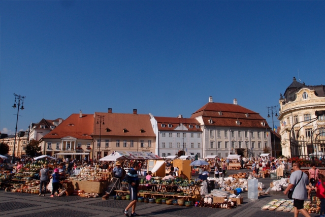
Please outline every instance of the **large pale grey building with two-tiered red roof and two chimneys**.
[[[214, 103], [212, 97], [191, 118], [200, 122], [203, 158], [240, 154], [257, 157], [271, 150], [270, 127], [261, 115], [237, 104]], [[271, 152], [271, 151], [270, 151]]]

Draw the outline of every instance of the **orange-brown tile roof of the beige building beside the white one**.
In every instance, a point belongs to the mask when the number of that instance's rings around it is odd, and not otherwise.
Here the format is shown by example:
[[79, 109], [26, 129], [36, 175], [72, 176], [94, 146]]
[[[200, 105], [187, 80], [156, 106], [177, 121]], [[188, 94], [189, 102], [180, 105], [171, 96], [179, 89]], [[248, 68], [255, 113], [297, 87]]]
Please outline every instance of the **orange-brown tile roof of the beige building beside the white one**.
[[104, 116], [105, 124], [101, 127], [102, 136], [156, 136], [151, 126], [149, 114], [104, 112], [95, 112], [92, 135], [100, 135], [100, 124], [97, 123], [98, 115]]

